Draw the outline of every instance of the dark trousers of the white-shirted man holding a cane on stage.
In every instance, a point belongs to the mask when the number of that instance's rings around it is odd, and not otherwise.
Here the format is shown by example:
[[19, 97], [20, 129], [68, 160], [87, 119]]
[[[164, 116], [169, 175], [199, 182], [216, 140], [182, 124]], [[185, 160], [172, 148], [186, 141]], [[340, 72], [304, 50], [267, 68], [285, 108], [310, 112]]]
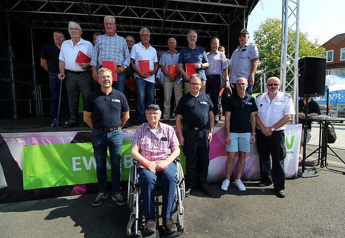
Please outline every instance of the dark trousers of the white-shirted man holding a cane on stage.
[[65, 73], [67, 95], [69, 96], [69, 122], [78, 123], [80, 92], [83, 97], [83, 101], [85, 102], [86, 97], [92, 93], [94, 80], [92, 79], [91, 71], [79, 73], [66, 70]]

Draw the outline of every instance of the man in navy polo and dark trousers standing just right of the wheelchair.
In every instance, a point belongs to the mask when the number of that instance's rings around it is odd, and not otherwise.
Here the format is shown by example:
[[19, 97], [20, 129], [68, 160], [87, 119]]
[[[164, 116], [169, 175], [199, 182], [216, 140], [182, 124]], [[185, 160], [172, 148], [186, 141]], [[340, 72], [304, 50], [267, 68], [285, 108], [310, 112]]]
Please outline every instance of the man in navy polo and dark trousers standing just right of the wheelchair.
[[213, 104], [207, 94], [200, 92], [201, 87], [200, 74], [192, 74], [189, 93], [180, 99], [175, 111], [177, 137], [186, 156], [186, 197], [197, 184], [206, 195], [212, 195], [207, 186], [207, 173], [214, 126]]

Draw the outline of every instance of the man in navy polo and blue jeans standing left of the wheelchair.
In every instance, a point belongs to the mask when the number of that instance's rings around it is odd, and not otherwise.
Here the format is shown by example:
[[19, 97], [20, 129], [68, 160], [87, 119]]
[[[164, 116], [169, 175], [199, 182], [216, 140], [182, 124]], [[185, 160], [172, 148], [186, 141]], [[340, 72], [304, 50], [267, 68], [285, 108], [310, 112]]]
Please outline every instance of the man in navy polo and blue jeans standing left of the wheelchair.
[[[122, 154], [121, 127], [129, 119], [129, 106], [125, 95], [112, 88], [111, 70], [98, 70], [101, 88], [91, 93], [84, 104], [84, 121], [92, 128], [92, 146], [96, 159], [99, 194], [92, 206], [98, 206], [108, 197], [106, 157], [109, 148], [111, 165], [112, 200], [119, 205], [127, 203], [120, 191], [120, 160]], [[122, 114], [122, 118], [121, 118]]]

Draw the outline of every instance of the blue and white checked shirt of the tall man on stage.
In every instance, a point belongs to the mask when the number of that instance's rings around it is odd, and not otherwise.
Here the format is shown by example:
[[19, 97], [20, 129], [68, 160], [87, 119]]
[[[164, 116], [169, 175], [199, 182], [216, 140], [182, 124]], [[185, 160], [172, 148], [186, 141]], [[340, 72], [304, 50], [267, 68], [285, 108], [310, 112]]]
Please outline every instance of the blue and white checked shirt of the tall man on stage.
[[92, 53], [91, 66], [102, 65], [102, 61], [116, 62], [118, 66], [129, 67], [130, 55], [125, 38], [103, 34], [97, 37], [95, 48]]

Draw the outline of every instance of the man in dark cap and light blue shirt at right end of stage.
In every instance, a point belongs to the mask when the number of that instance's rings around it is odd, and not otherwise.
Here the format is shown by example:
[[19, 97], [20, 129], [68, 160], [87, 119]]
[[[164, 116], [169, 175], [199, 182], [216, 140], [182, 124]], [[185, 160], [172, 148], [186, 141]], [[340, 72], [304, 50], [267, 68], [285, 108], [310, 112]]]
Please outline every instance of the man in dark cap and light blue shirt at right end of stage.
[[244, 77], [248, 80], [246, 92], [251, 95], [254, 84], [254, 74], [258, 67], [259, 50], [254, 44], [249, 43], [249, 32], [242, 29], [239, 33], [240, 45], [236, 48], [230, 59], [230, 86], [236, 94], [236, 80]]

